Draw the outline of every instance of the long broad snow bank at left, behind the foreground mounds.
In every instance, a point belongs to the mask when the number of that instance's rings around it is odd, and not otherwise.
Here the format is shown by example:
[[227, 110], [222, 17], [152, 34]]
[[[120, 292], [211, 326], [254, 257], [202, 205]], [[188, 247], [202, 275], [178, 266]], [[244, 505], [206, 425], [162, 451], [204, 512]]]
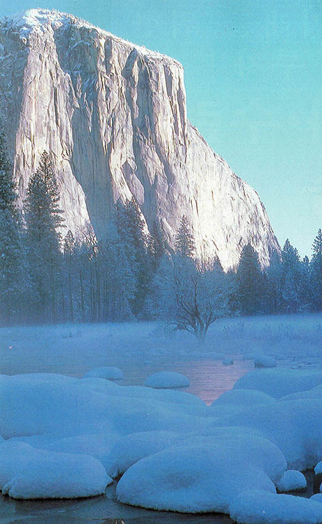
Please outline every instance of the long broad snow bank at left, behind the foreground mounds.
[[[107, 382], [63, 375], [38, 377], [35, 374], [24, 379], [20, 375], [0, 376], [0, 434], [10, 439], [42, 434], [60, 434], [63, 438], [152, 430], [191, 432], [209, 424], [202, 411], [198, 415], [198, 409], [191, 409], [189, 404], [108, 395], [94, 391], [86, 381]], [[127, 388], [115, 387], [120, 391]]]

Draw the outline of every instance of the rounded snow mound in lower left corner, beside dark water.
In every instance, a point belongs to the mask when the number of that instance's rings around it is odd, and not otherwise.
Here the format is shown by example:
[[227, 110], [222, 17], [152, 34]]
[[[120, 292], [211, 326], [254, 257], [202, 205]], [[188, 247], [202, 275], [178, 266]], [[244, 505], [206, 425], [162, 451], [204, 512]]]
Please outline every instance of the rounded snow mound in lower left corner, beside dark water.
[[94, 457], [40, 452], [2, 492], [17, 499], [92, 497], [104, 493], [111, 482]]

